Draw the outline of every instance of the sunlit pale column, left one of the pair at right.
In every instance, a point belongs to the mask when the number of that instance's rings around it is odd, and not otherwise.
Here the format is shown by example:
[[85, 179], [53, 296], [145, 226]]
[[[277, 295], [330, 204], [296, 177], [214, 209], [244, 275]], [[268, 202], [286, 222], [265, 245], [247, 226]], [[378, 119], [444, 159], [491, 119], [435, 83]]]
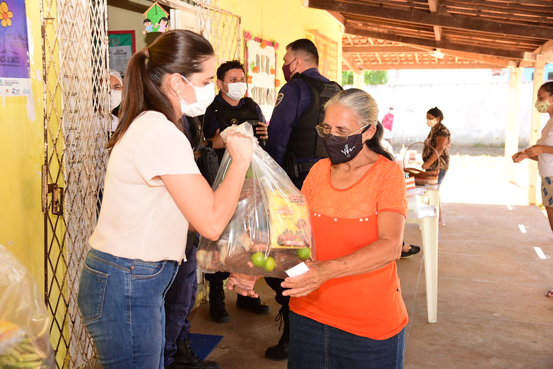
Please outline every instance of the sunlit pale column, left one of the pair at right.
[[518, 152], [518, 119], [520, 117], [518, 100], [520, 98], [523, 69], [511, 68], [510, 71], [509, 111], [507, 112], [507, 127], [505, 127], [505, 179], [514, 182], [515, 163], [513, 163], [511, 156]]

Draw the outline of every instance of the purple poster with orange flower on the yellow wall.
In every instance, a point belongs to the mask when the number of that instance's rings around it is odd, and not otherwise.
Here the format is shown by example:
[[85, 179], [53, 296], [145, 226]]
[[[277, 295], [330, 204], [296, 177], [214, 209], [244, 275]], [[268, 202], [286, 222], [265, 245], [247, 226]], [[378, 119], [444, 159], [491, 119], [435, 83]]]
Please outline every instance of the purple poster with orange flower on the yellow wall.
[[0, 96], [30, 96], [25, 0], [0, 1]]

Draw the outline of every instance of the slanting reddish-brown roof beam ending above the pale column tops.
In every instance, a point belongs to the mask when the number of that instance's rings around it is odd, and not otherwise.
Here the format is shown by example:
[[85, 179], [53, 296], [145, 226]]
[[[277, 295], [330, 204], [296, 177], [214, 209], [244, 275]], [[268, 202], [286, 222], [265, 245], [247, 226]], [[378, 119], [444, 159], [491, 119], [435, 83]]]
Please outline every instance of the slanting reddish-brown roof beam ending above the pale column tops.
[[388, 41], [401, 42], [402, 44], [415, 44], [421, 46], [429, 46], [431, 48], [447, 48], [449, 50], [466, 51], [468, 53], [505, 57], [511, 60], [531, 60], [532, 55], [534, 55], [533, 53], [525, 53], [512, 49], [491, 48], [469, 44], [457, 44], [455, 42], [448, 42], [447, 40], [436, 41], [434, 39], [423, 39], [419, 37], [404, 37], [396, 35], [394, 33], [376, 32], [364, 28], [359, 28], [350, 24], [349, 22], [346, 23], [344, 31], [345, 33], [350, 33], [352, 35], [374, 37], [376, 39], [386, 39]]

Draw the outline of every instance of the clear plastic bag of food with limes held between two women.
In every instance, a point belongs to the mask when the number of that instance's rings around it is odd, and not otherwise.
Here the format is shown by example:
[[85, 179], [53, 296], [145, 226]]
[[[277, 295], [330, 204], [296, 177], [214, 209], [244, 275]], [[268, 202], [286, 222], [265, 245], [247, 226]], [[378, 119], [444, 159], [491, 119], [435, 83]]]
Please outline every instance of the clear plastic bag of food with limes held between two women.
[[[314, 258], [309, 210], [302, 192], [253, 138], [251, 125], [233, 126], [255, 141], [235, 213], [217, 241], [200, 238], [197, 261], [206, 273], [230, 271], [285, 278], [286, 271]], [[221, 136], [225, 138], [226, 132]], [[213, 189], [223, 180], [225, 152]]]

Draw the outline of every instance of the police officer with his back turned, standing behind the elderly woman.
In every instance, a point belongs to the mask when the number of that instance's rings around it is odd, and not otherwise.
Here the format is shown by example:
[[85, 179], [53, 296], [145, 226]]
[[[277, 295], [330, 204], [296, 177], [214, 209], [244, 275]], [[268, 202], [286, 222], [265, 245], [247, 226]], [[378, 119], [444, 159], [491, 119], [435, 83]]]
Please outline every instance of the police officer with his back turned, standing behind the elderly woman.
[[[319, 73], [318, 61], [317, 48], [309, 39], [297, 39], [286, 46], [282, 72], [287, 83], [277, 96], [265, 147], [299, 189], [309, 169], [327, 157], [315, 126], [323, 123], [325, 102], [342, 89]], [[265, 280], [276, 292], [275, 298], [282, 305], [278, 318], [284, 321], [282, 337], [277, 345], [266, 350], [265, 356], [273, 360], [288, 359], [289, 296], [282, 296], [281, 279]]]

